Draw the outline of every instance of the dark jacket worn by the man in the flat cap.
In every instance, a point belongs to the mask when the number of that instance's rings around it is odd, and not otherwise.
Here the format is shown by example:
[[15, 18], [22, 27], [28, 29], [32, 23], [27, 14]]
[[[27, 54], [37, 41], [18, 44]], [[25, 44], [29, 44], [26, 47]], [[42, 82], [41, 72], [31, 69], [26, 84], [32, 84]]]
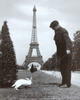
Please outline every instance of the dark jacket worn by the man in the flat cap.
[[66, 50], [72, 52], [72, 42], [66, 29], [60, 27], [55, 31], [54, 40], [57, 46], [57, 55], [59, 57], [66, 55]]

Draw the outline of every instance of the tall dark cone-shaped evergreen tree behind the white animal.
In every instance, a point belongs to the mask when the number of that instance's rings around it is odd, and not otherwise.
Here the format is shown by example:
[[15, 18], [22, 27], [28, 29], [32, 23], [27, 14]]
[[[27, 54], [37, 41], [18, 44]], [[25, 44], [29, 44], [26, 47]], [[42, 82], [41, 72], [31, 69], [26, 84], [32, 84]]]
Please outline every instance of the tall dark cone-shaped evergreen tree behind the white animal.
[[13, 48], [13, 42], [10, 38], [7, 22], [4, 22], [1, 30], [1, 64], [0, 66], [0, 87], [11, 86], [16, 80], [17, 66], [16, 57]]

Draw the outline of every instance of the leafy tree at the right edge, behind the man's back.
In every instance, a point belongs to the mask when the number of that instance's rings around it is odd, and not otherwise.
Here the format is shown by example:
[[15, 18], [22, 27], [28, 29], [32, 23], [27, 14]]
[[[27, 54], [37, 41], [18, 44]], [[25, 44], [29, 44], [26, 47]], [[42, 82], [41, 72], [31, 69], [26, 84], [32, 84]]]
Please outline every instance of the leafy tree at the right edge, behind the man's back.
[[[74, 34], [73, 69], [80, 69], [80, 31]], [[75, 67], [74, 67], [75, 66]]]

